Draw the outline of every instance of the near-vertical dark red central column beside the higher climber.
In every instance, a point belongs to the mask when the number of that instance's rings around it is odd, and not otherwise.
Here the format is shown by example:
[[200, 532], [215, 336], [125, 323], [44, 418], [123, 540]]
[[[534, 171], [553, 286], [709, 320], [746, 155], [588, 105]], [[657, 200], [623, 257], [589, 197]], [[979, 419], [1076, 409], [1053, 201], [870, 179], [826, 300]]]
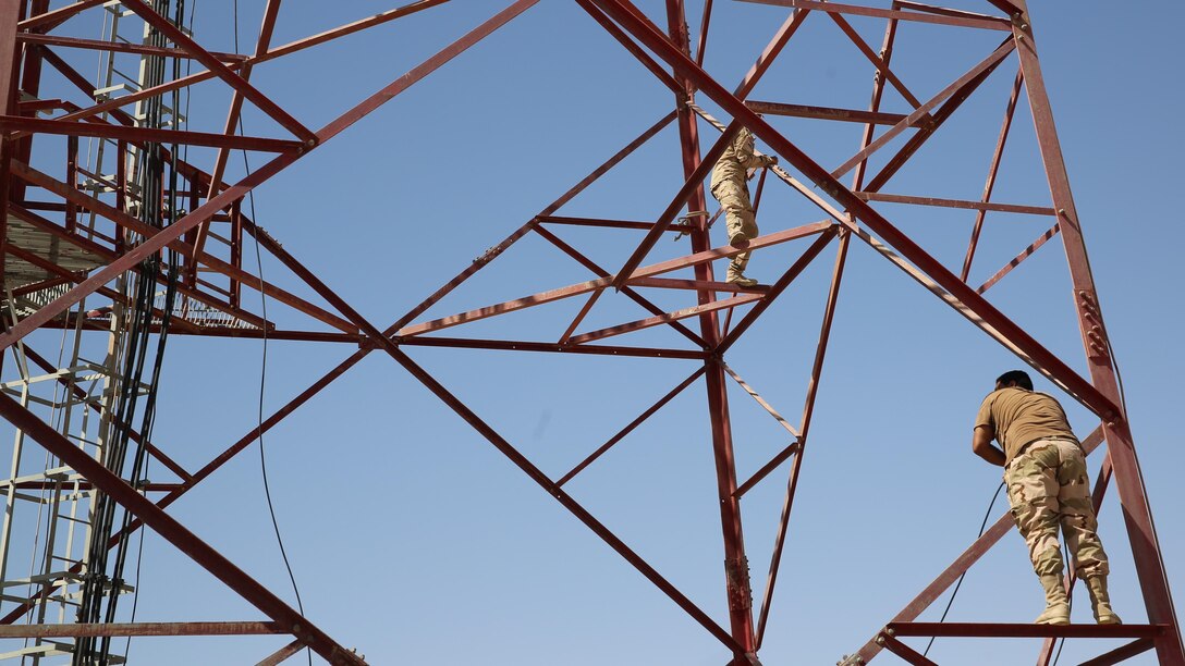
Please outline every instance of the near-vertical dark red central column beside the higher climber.
[[[691, 57], [690, 34], [684, 12], [683, 0], [667, 0], [667, 28], [675, 46], [688, 58]], [[690, 178], [699, 166], [699, 133], [696, 115], [687, 107], [694, 97], [694, 85], [681, 73], [675, 72], [677, 81], [683, 85], [685, 95], [675, 98], [679, 111], [679, 141], [683, 146], [684, 178]], [[707, 198], [704, 186], [699, 185], [687, 201], [688, 210], [707, 210]], [[711, 249], [707, 233], [707, 222], [696, 218], [696, 230], [691, 232], [692, 252]], [[710, 263], [696, 267], [696, 280], [712, 281]], [[710, 289], [697, 292], [699, 305], [716, 300], [716, 293]], [[719, 325], [715, 312], [699, 318], [702, 337], [707, 347], [716, 348], [719, 344]], [[749, 561], [744, 555], [744, 534], [741, 529], [741, 500], [735, 497], [737, 489], [736, 463], [732, 456], [732, 427], [729, 423], [729, 396], [724, 377], [724, 365], [718, 357], [706, 361], [704, 382], [707, 386], [707, 411], [712, 428], [712, 452], [716, 457], [717, 492], [720, 499], [720, 526], [724, 532], [724, 574], [728, 585], [729, 621], [732, 638], [745, 653], [756, 648], [752, 625], [752, 589], [749, 584]], [[739, 662], [742, 655], [737, 655]]]

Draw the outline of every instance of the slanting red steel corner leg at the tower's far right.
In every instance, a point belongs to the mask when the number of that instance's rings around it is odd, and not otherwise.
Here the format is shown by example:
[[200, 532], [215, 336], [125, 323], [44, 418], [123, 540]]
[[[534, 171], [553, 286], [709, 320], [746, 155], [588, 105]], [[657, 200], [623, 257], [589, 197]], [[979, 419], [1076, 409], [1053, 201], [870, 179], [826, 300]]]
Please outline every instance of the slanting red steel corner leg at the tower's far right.
[[[1107, 339], [1107, 328], [1103, 325], [1094, 276], [1090, 274], [1090, 261], [1082, 238], [1081, 220], [1074, 206], [1074, 196], [1070, 192], [1070, 179], [1062, 158], [1057, 128], [1053, 124], [1053, 111], [1045, 92], [1040, 63], [1037, 59], [1037, 45], [1033, 40], [1027, 6], [1025, 0], [1012, 1], [1021, 9], [1013, 15], [1013, 36], [1017, 40], [1017, 53], [1020, 57], [1025, 89], [1029, 92], [1029, 104], [1037, 128], [1037, 142], [1040, 146], [1042, 160], [1045, 162], [1045, 174], [1049, 178], [1049, 188], [1053, 207], [1057, 209], [1058, 226], [1062, 230], [1065, 256], [1070, 267], [1074, 306], [1078, 313], [1078, 326], [1087, 351], [1090, 379], [1102, 395], [1115, 404], [1120, 404], [1121, 396], [1112, 365], [1110, 342]], [[1152, 510], [1148, 506], [1148, 497], [1144, 486], [1144, 476], [1140, 473], [1140, 462], [1135, 455], [1127, 415], [1119, 414], [1110, 421], [1104, 420], [1103, 429], [1108, 452], [1114, 463], [1115, 486], [1123, 505], [1123, 519], [1127, 523], [1135, 571], [1140, 578], [1140, 589], [1144, 593], [1148, 620], [1155, 625], [1172, 626], [1170, 632], [1155, 640], [1157, 655], [1160, 664], [1185, 665], [1185, 646], [1181, 643], [1180, 625], [1177, 622], [1173, 609], [1168, 576], [1160, 557], [1160, 546], [1152, 524]]]

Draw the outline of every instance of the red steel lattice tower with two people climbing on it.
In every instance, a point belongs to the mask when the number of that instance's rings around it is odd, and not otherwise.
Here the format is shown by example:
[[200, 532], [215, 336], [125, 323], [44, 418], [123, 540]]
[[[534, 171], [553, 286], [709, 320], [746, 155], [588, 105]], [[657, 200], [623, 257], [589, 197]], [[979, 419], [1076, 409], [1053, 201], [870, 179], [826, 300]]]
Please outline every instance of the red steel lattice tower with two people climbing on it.
[[[724, 651], [732, 655], [731, 664], [756, 664], [768, 627], [767, 620], [782, 561], [790, 508], [811, 429], [848, 248], [853, 244], [864, 244], [905, 271], [954, 312], [965, 316], [1098, 418], [1098, 429], [1083, 442], [1088, 450], [1097, 448], [1102, 442], [1107, 443], [1107, 457], [1094, 500], [1097, 507], [1110, 480], [1114, 480], [1149, 622], [1116, 627], [915, 622], [922, 611], [1008, 531], [1011, 525], [1005, 517], [988, 529], [897, 616], [890, 619], [858, 654], [847, 658], [847, 662], [866, 662], [883, 649], [888, 649], [912, 664], [931, 664], [899, 640], [904, 636], [1040, 636], [1046, 639], [1039, 657], [1043, 664], [1048, 664], [1051, 659], [1056, 638], [1110, 638], [1128, 639], [1129, 642], [1100, 655], [1091, 661], [1093, 664], [1113, 664], [1154, 649], [1161, 664], [1185, 665], [1180, 627], [1172, 606], [1168, 579], [1153, 530], [1152, 513], [1122, 406], [1110, 344], [1087, 261], [1080, 217], [1055, 130], [1042, 78], [1037, 38], [1030, 25], [1025, 0], [985, 0], [978, 11], [942, 8], [907, 0], [870, 0], [858, 5], [821, 0], [749, 1], [787, 7], [790, 11], [784, 23], [773, 31], [773, 37], [751, 70], [741, 84], [730, 91], [704, 69], [703, 53], [709, 40], [711, 18], [716, 11], [712, 0], [705, 0], [702, 6], [696, 7], [702, 9], [697, 31], [692, 31], [688, 25], [690, 8], [683, 0], [665, 0], [661, 9], [652, 9], [651, 14], [639, 9], [630, 0], [575, 0], [574, 4], [590, 20], [602, 26], [622, 49], [653, 75], [656, 85], [670, 89], [673, 95], [672, 110], [595, 168], [563, 197], [545, 206], [455, 278], [435, 290], [419, 306], [390, 326], [379, 328], [331, 287], [332, 278], [315, 275], [258, 228], [255, 220], [245, 214], [242, 201], [252, 188], [314, 153], [322, 143], [347, 130], [367, 114], [529, 11], [538, 0], [501, 4], [505, 6], [498, 7], [497, 13], [478, 27], [320, 129], [306, 127], [299, 120], [300, 109], [289, 111], [252, 85], [250, 82], [252, 66], [410, 14], [430, 11], [444, 5], [447, 0], [411, 2], [281, 46], [271, 44], [280, 1], [268, 0], [255, 50], [250, 55], [207, 50], [178, 25], [175, 19], [165, 15], [167, 12], [162, 8], [167, 8], [168, 2], [121, 0], [117, 4], [105, 4], [83, 0], [51, 8], [47, 0], [0, 0], [0, 19], [2, 19], [0, 20], [2, 26], [0, 27], [0, 101], [5, 104], [4, 113], [0, 114], [0, 133], [2, 133], [0, 207], [5, 211], [5, 214], [0, 216], [0, 232], [2, 232], [0, 248], [4, 249], [0, 252], [0, 269], [2, 269], [0, 275], [4, 276], [6, 290], [7, 325], [6, 331], [0, 334], [0, 348], [13, 352], [13, 357], [19, 359], [14, 365], [24, 367], [32, 361], [52, 374], [51, 384], [60, 384], [68, 392], [78, 393], [83, 382], [79, 378], [81, 371], [76, 369], [63, 372], [60, 369], [55, 369], [43, 357], [26, 348], [23, 341], [30, 333], [40, 328], [68, 328], [79, 335], [109, 335], [127, 325], [127, 319], [121, 316], [140, 310], [147, 313], [147, 321], [154, 334], [159, 334], [162, 322], [168, 321], [171, 334], [175, 335], [258, 338], [265, 332], [269, 338], [277, 340], [358, 345], [358, 351], [338, 367], [274, 412], [261, 428], [249, 431], [198, 470], [185, 469], [171, 460], [167, 447], [148, 442], [147, 433], [135, 431], [129, 423], [120, 424], [115, 397], [109, 397], [105, 402], [78, 403], [87, 405], [81, 409], [94, 409], [101, 415], [105, 427], [110, 428], [113, 423], [120, 425], [122, 431], [139, 444], [137, 455], [152, 456], [168, 468], [177, 476], [174, 482], [168, 484], [149, 484], [127, 478], [120, 472], [122, 467], [113, 469], [110, 459], [104, 460], [103, 455], [98, 455], [103, 452], [91, 452], [71, 441], [70, 433], [59, 431], [60, 429], [47, 423], [46, 418], [30, 409], [27, 401], [21, 403], [0, 396], [0, 414], [21, 431], [24, 437], [47, 449], [66, 470], [53, 474], [47, 472], [39, 479], [24, 479], [19, 482], [19, 475], [14, 473], [6, 491], [9, 514], [14, 511], [18, 488], [52, 493], [85, 491], [92, 493], [89, 497], [94, 506], [98, 506], [101, 499], [105, 498], [107, 501], [116, 502], [128, 520], [117, 530], [96, 532], [95, 538], [101, 543], [115, 549], [136, 530], [141, 527], [153, 530], [268, 617], [262, 622], [161, 625], [115, 623], [108, 620], [55, 623], [40, 613], [37, 620], [31, 622], [28, 617], [34, 610], [52, 603], [64, 604], [66, 591], [85, 585], [87, 581], [107, 576], [105, 569], [94, 561], [81, 559], [69, 570], [47, 572], [46, 577], [37, 582], [39, 590], [27, 601], [8, 601], [9, 606], [5, 608], [6, 626], [2, 627], [5, 630], [0, 632], [0, 638], [31, 638], [39, 641], [52, 638], [73, 639], [78, 641], [75, 643], [76, 647], [71, 648], [70, 643], [65, 643], [66, 647], [62, 648], [70, 652], [81, 649], [77, 646], [83, 645], [81, 641], [84, 639], [96, 638], [281, 634], [290, 635], [292, 642], [263, 662], [280, 662], [306, 646], [334, 664], [361, 662], [358, 655], [342, 648], [338, 641], [243, 572], [216, 549], [198, 539], [165, 510], [251, 444], [263, 431], [275, 427], [346, 373], [364, 357], [379, 352], [390, 357], [436, 395], [577, 520], [587, 525], [610, 549], [718, 639]], [[142, 21], [145, 34], [152, 36], [153, 39], [146, 37], [142, 44], [135, 44], [114, 39], [90, 40], [65, 32], [58, 33], [60, 26], [70, 18], [87, 12], [111, 12], [113, 5], [118, 6], [114, 11], [116, 15]], [[489, 11], [489, 7], [482, 6], [474, 11], [480, 13]], [[870, 45], [852, 28], [850, 18], [883, 21], [882, 46], [876, 49]], [[835, 24], [845, 39], [852, 41], [869, 60], [876, 76], [872, 101], [867, 109], [814, 107], [749, 98], [750, 92], [808, 19]], [[903, 23], [923, 23], [948, 31], [995, 33], [1000, 37], [1000, 43], [994, 50], [984, 53], [982, 59], [971, 70], [948, 82], [933, 97], [923, 100], [910, 91], [904, 77], [899, 76], [891, 64], [892, 52], [897, 45], [897, 27]], [[66, 49], [133, 55], [145, 62], [154, 63], [186, 60], [206, 69], [185, 76], [180, 76], [178, 70], [174, 70], [172, 76], [161, 70], [164, 73], [156, 79], [142, 78], [139, 88], [124, 88], [117, 91], [96, 89], [57, 53]], [[883, 192], [885, 184], [931, 136], [940, 133], [960, 105], [974, 96], [981, 84], [1006, 63], [1017, 66], [1017, 75], [1004, 127], [999, 129], [982, 197], [979, 200], [959, 200]], [[75, 85], [76, 90], [71, 97], [56, 98], [40, 94], [43, 70], [46, 68], [56, 70]], [[141, 103], [161, 100], [177, 90], [212, 79], [218, 79], [233, 90], [231, 108], [222, 133], [181, 129], [175, 109], [169, 111], [173, 114], [172, 121], [160, 120], [168, 117], [166, 113], [158, 117], [155, 123], [146, 123], [145, 114], [139, 110], [134, 114], [127, 110], [129, 105], [137, 104], [139, 109]], [[884, 95], [889, 90], [895, 91], [908, 103], [907, 113], [889, 113], [882, 109]], [[1051, 194], [1048, 206], [993, 200], [1001, 153], [1021, 97], [1026, 100], [1036, 126], [1039, 154]], [[252, 104], [287, 134], [282, 137], [243, 135], [237, 128], [244, 104]], [[718, 121], [705, 110], [704, 107], [709, 104], [731, 120], [728, 123]], [[43, 115], [47, 117], [40, 117]], [[767, 116], [815, 119], [863, 126], [860, 149], [828, 171], [779, 132], [766, 120]], [[577, 194], [614, 169], [662, 129], [672, 126], [678, 132], [681, 149], [683, 185], [671, 193], [670, 200], [662, 201], [666, 207], [660, 216], [653, 220], [636, 222], [558, 214]], [[766, 188], [784, 186], [824, 216], [821, 222], [767, 231], [748, 243], [747, 249], [751, 250], [792, 243], [802, 245], [796, 261], [780, 267], [782, 273], [777, 280], [755, 288], [737, 287], [716, 278], [713, 262], [728, 260], [742, 250], [719, 244], [719, 228], [716, 229], [717, 233], [712, 235], [712, 225], [719, 213], [712, 214], [713, 203], [705, 192], [705, 179], [712, 166], [729, 140], [742, 127], [750, 129], [781, 159], [781, 167], [761, 172], [756, 186], [757, 203], [760, 204]], [[68, 137], [66, 159], [49, 160], [38, 153], [43, 145], [40, 140], [51, 135]], [[94, 168], [79, 166], [79, 137], [97, 139], [109, 146], [114, 152], [111, 159], [111, 164], [115, 165], [114, 175], [104, 174], [102, 164]], [[216, 156], [206, 165], [187, 164], [178, 159], [179, 146], [216, 148]], [[148, 155], [160, 154], [164, 147], [169, 148], [165, 156], [158, 160], [156, 168], [158, 177], [166, 180], [171, 178], [174, 182], [174, 198], [168, 205], [162, 203], [164, 186], [136, 186], [136, 182], [142, 181], [133, 178], [133, 173], [146, 172], [148, 169], [146, 165], [149, 164]], [[237, 182], [226, 182], [224, 177], [229, 154], [235, 151], [267, 153], [271, 156], [246, 178]], [[875, 169], [871, 158], [889, 154], [891, 156], [879, 166], [879, 169]], [[36, 168], [32, 166], [34, 162], [39, 165], [52, 162], [56, 165], [56, 171]], [[886, 213], [876, 207], [878, 204], [973, 211], [974, 231], [961, 270], [952, 270], [901, 231]], [[1044, 216], [1051, 218], [1051, 226], [1029, 246], [1017, 248], [1019, 254], [1016, 260], [991, 280], [975, 287], [968, 282], [968, 277], [979, 248], [980, 232], [989, 213]], [[87, 218], [89, 223], [82, 222]], [[589, 258], [575, 243], [565, 241], [557, 233], [557, 229], [566, 226], [633, 229], [643, 232], [643, 237], [636, 245], [632, 245], [628, 258], [620, 265], [601, 265]], [[224, 233], [223, 229], [229, 231]], [[671, 232], [679, 232], [686, 237], [686, 241], [681, 242], [690, 242], [687, 251], [675, 258], [656, 261], [655, 244], [660, 237]], [[475, 278], [510, 246], [531, 235], [571, 257], [595, 277], [448, 316], [422, 319], [424, 313], [454, 289]], [[1089, 367], [1087, 376], [1076, 372], [1069, 363], [1043, 346], [984, 296], [985, 292], [1013, 268], [1058, 236], [1065, 250], [1072, 281], [1072, 297]], [[306, 300], [244, 270], [242, 246], [245, 237], [257, 239], [275, 261], [287, 267], [296, 278], [315, 292], [325, 305]], [[832, 278], [826, 293], [826, 307], [811, 365], [802, 418], [798, 425], [792, 425], [725, 363], [725, 354], [803, 270], [824, 256], [824, 250], [828, 246], [834, 246], [837, 251]], [[174, 261], [179, 267], [175, 284], [171, 283], [169, 287], [171, 293], [175, 293], [177, 301], [165, 303], [146, 301], [136, 305], [126, 287], [113, 288], [113, 284], [134, 283], [132, 276], [142, 270], [143, 262], [166, 251], [175, 255]], [[680, 271], [681, 277], [665, 276]], [[156, 280], [145, 277], [147, 274], [143, 273], [137, 275], [141, 281]], [[278, 329], [262, 314], [243, 306], [244, 290], [262, 292], [274, 301], [307, 315], [318, 322], [320, 328]], [[678, 293], [687, 299], [688, 305], [673, 310], [660, 307], [655, 299], [648, 295], [651, 290]], [[467, 325], [478, 321], [582, 297], [584, 305], [566, 328], [542, 334], [542, 339], [493, 340], [457, 333], [465, 331]], [[87, 302], [85, 299], [91, 299], [91, 307], [82, 306]], [[92, 307], [94, 299], [105, 300], [96, 308]], [[610, 301], [634, 302], [648, 310], [651, 316], [598, 329], [582, 327], [590, 312]], [[449, 328], [455, 331], [447, 335], [440, 333]], [[604, 342], [609, 338], [623, 340], [629, 334], [645, 329], [666, 331], [675, 337], [679, 344], [658, 347]], [[88, 333], [90, 331], [96, 332]], [[416, 346], [667, 358], [692, 361], [697, 367], [686, 380], [568, 474], [552, 478], [497, 433], [438, 379], [414, 361], [405, 348]], [[115, 370], [111, 367], [107, 370], [113, 382], [120, 379]], [[31, 382], [28, 373], [25, 372], [23, 377], [27, 389]], [[742, 386], [792, 435], [789, 446], [744, 480], [738, 479], [735, 463], [728, 393], [730, 382]], [[728, 627], [720, 626], [709, 613], [697, 607], [655, 566], [619, 538], [610, 526], [601, 523], [564, 489], [568, 481], [592, 465], [630, 430], [662, 410], [674, 396], [697, 384], [703, 385], [706, 392], [705, 406], [715, 457]], [[139, 391], [139, 388], [135, 391]], [[133, 410], [132, 414], [136, 412]], [[775, 478], [775, 473], [784, 474], [784, 505], [777, 525], [768, 577], [760, 600], [755, 600], [742, 532], [741, 505], [745, 493], [758, 484], [769, 482]], [[92, 507], [84, 508], [84, 511], [92, 510]], [[5, 530], [5, 542], [7, 542], [7, 523]], [[122, 584], [118, 579], [108, 578], [105, 582], [111, 589], [117, 589]], [[58, 648], [60, 645], [58, 643]]]

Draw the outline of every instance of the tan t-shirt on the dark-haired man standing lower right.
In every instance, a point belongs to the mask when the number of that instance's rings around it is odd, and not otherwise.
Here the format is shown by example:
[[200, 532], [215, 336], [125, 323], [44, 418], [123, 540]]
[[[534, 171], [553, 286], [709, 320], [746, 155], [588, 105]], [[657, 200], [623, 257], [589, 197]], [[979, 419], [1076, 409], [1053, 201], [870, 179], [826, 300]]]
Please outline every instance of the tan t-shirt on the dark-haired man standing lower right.
[[1010, 386], [992, 391], [975, 416], [975, 428], [991, 425], [995, 441], [1011, 461], [1020, 449], [1037, 440], [1074, 440], [1074, 430], [1062, 405], [1052, 396]]

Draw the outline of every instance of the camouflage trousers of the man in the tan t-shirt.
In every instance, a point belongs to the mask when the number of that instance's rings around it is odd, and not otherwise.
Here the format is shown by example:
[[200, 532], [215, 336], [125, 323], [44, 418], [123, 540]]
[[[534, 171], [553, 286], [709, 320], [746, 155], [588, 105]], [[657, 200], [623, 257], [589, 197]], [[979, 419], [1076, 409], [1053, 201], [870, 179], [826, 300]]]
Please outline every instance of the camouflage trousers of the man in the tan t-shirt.
[[1106, 576], [1107, 553], [1098, 540], [1095, 510], [1090, 504], [1087, 461], [1077, 442], [1037, 440], [1004, 469], [1012, 518], [1029, 546], [1038, 576], [1061, 575], [1058, 526], [1074, 557], [1078, 576]]

